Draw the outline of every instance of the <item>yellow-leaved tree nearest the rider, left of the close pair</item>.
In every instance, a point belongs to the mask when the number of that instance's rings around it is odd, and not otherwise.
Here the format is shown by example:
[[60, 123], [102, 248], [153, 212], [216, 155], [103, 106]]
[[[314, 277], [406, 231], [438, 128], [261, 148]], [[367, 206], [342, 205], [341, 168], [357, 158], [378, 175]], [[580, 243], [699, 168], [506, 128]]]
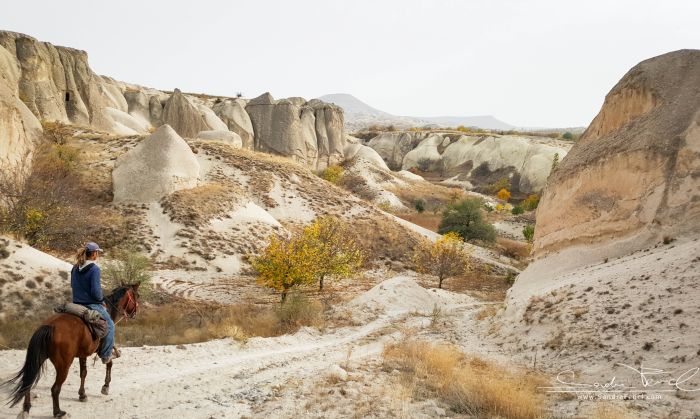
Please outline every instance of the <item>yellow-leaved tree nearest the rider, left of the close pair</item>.
[[316, 280], [318, 256], [315, 249], [299, 236], [284, 238], [272, 235], [262, 254], [251, 259], [258, 272], [258, 283], [280, 292], [282, 303], [295, 286], [312, 284]]

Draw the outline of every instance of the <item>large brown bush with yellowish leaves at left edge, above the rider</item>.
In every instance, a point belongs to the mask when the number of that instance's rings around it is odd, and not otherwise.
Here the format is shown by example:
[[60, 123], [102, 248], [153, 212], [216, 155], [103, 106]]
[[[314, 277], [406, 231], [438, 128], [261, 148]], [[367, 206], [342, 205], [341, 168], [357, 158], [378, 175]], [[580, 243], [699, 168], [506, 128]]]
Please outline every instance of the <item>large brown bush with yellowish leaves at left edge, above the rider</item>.
[[42, 143], [26, 164], [26, 176], [0, 174], [0, 231], [64, 253], [87, 239], [105, 246], [123, 240], [124, 217], [89, 191], [81, 153], [64, 137]]

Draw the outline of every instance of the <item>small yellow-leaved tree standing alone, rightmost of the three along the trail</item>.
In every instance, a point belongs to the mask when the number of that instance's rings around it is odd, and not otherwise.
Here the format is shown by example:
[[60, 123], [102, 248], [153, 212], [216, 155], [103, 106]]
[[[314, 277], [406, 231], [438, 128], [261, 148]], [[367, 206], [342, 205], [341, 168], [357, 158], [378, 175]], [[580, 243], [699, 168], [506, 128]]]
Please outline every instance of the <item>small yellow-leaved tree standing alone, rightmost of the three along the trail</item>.
[[449, 232], [435, 243], [424, 240], [416, 250], [414, 262], [418, 272], [437, 276], [438, 288], [442, 288], [442, 281], [469, 269], [469, 255], [459, 234]]

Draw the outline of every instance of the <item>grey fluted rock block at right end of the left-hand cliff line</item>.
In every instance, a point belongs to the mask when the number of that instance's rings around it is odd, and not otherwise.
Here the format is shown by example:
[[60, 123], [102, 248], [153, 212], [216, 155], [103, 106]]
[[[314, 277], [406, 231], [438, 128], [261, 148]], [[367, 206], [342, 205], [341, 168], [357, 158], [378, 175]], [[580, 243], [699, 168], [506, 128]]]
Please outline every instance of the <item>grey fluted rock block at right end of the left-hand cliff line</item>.
[[255, 133], [255, 150], [292, 157], [314, 169], [343, 160], [342, 109], [318, 100], [275, 100], [265, 93], [246, 106]]

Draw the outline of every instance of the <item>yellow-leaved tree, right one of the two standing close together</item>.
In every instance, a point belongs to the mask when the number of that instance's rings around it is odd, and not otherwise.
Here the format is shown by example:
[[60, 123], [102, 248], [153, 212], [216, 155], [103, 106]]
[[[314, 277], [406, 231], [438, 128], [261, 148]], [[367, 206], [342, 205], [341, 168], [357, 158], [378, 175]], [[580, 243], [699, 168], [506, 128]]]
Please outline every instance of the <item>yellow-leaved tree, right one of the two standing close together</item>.
[[314, 273], [319, 291], [328, 277], [349, 277], [362, 266], [364, 254], [352, 238], [349, 226], [334, 217], [317, 218], [302, 232], [313, 254], [318, 258]]

